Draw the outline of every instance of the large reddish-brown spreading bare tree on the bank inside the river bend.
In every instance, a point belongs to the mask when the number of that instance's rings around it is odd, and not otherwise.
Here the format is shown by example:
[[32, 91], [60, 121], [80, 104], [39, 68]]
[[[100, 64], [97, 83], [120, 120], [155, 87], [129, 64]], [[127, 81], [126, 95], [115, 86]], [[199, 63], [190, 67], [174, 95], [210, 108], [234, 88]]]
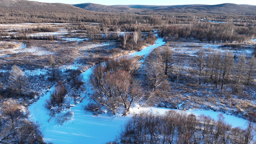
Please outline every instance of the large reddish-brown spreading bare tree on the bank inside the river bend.
[[126, 115], [131, 105], [143, 97], [142, 89], [129, 72], [110, 73], [106, 70], [102, 64], [95, 67], [90, 77], [90, 84], [94, 87], [95, 93], [90, 98], [97, 105], [101, 105], [100, 107], [109, 109], [114, 115], [117, 108], [123, 106], [123, 115]]

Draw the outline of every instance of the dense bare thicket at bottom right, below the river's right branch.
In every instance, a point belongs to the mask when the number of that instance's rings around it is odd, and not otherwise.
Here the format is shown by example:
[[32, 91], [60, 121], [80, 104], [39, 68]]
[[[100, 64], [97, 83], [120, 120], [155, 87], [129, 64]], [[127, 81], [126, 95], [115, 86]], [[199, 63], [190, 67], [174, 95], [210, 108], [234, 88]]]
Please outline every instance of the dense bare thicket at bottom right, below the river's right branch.
[[251, 144], [255, 137], [254, 118], [246, 128], [235, 127], [211, 117], [181, 111], [168, 111], [165, 115], [134, 115], [124, 125], [119, 140], [122, 144]]

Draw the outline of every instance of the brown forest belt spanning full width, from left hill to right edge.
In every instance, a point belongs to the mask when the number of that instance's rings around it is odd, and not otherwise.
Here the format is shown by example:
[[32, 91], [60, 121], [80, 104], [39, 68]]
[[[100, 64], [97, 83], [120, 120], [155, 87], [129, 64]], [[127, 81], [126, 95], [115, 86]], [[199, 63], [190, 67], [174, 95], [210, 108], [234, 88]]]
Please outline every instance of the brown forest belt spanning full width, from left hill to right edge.
[[0, 2], [0, 23], [80, 23], [91, 22], [105, 25], [122, 24], [193, 24], [200, 19], [221, 22], [255, 23], [254, 16], [241, 16], [238, 14], [195, 14], [191, 12], [145, 11], [134, 13], [92, 12], [68, 4], [40, 3], [25, 0]]

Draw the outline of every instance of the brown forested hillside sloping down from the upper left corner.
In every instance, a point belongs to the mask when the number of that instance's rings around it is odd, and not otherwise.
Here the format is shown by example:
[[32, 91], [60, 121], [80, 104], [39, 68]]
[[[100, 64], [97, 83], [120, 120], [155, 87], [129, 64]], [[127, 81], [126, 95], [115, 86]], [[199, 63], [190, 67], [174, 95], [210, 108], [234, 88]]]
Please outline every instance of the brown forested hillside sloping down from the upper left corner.
[[70, 4], [0, 0], [0, 24], [97, 22], [95, 13]]

